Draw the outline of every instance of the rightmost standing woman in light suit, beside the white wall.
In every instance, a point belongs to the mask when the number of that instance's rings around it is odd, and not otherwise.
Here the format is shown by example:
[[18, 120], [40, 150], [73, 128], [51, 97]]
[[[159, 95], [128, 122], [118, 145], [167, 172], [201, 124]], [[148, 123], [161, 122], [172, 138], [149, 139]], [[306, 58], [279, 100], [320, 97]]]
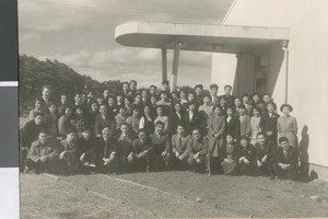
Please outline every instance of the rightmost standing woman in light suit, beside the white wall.
[[290, 104], [282, 104], [280, 111], [282, 112], [282, 116], [277, 120], [279, 138], [286, 137], [290, 146], [297, 147], [297, 120], [290, 115], [293, 107]]

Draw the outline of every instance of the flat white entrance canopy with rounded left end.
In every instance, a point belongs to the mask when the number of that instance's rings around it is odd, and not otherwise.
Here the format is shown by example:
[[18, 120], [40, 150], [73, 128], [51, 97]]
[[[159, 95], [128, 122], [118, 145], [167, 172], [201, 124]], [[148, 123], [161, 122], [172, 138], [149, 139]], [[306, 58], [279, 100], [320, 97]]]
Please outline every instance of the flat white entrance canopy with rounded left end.
[[115, 30], [124, 46], [237, 54], [289, 41], [289, 28], [132, 21]]

